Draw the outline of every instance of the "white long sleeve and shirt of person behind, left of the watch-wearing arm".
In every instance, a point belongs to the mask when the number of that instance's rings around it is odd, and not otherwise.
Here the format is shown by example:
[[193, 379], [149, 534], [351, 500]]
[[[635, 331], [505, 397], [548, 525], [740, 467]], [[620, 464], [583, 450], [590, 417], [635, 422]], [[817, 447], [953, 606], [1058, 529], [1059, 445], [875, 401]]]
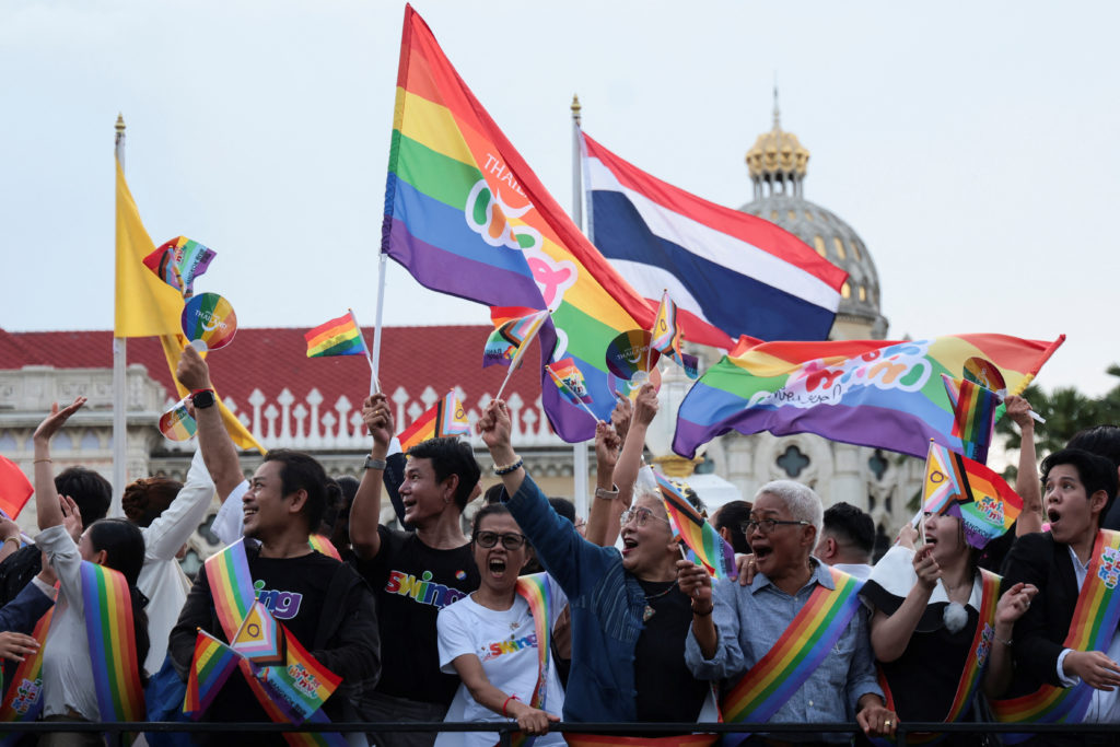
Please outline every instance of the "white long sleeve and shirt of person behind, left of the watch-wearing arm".
[[155, 674], [164, 665], [167, 639], [190, 591], [190, 579], [183, 572], [175, 555], [203, 523], [213, 497], [214, 482], [206, 471], [202, 449], [198, 449], [190, 461], [183, 489], [175, 496], [171, 505], [142, 530], [144, 561], [137, 579], [137, 588], [148, 597], [144, 611], [148, 613], [151, 648], [143, 661], [148, 674]]

